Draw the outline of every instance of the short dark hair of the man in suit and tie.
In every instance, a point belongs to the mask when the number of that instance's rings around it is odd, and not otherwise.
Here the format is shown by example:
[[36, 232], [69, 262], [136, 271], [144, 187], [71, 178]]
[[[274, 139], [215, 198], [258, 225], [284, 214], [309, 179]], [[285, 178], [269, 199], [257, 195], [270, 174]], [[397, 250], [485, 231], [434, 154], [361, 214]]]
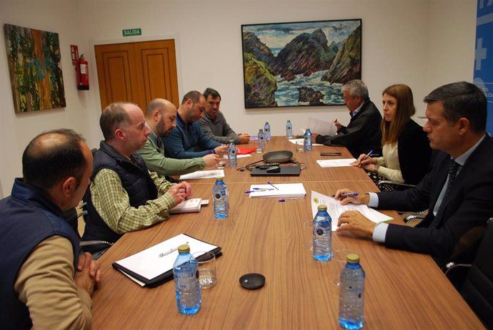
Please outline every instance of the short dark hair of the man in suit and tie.
[[487, 100], [483, 91], [472, 83], [459, 81], [448, 83], [429, 93], [425, 103], [441, 101], [444, 105], [443, 115], [450, 123], [457, 123], [460, 118], [467, 118], [474, 132], [486, 130]]

